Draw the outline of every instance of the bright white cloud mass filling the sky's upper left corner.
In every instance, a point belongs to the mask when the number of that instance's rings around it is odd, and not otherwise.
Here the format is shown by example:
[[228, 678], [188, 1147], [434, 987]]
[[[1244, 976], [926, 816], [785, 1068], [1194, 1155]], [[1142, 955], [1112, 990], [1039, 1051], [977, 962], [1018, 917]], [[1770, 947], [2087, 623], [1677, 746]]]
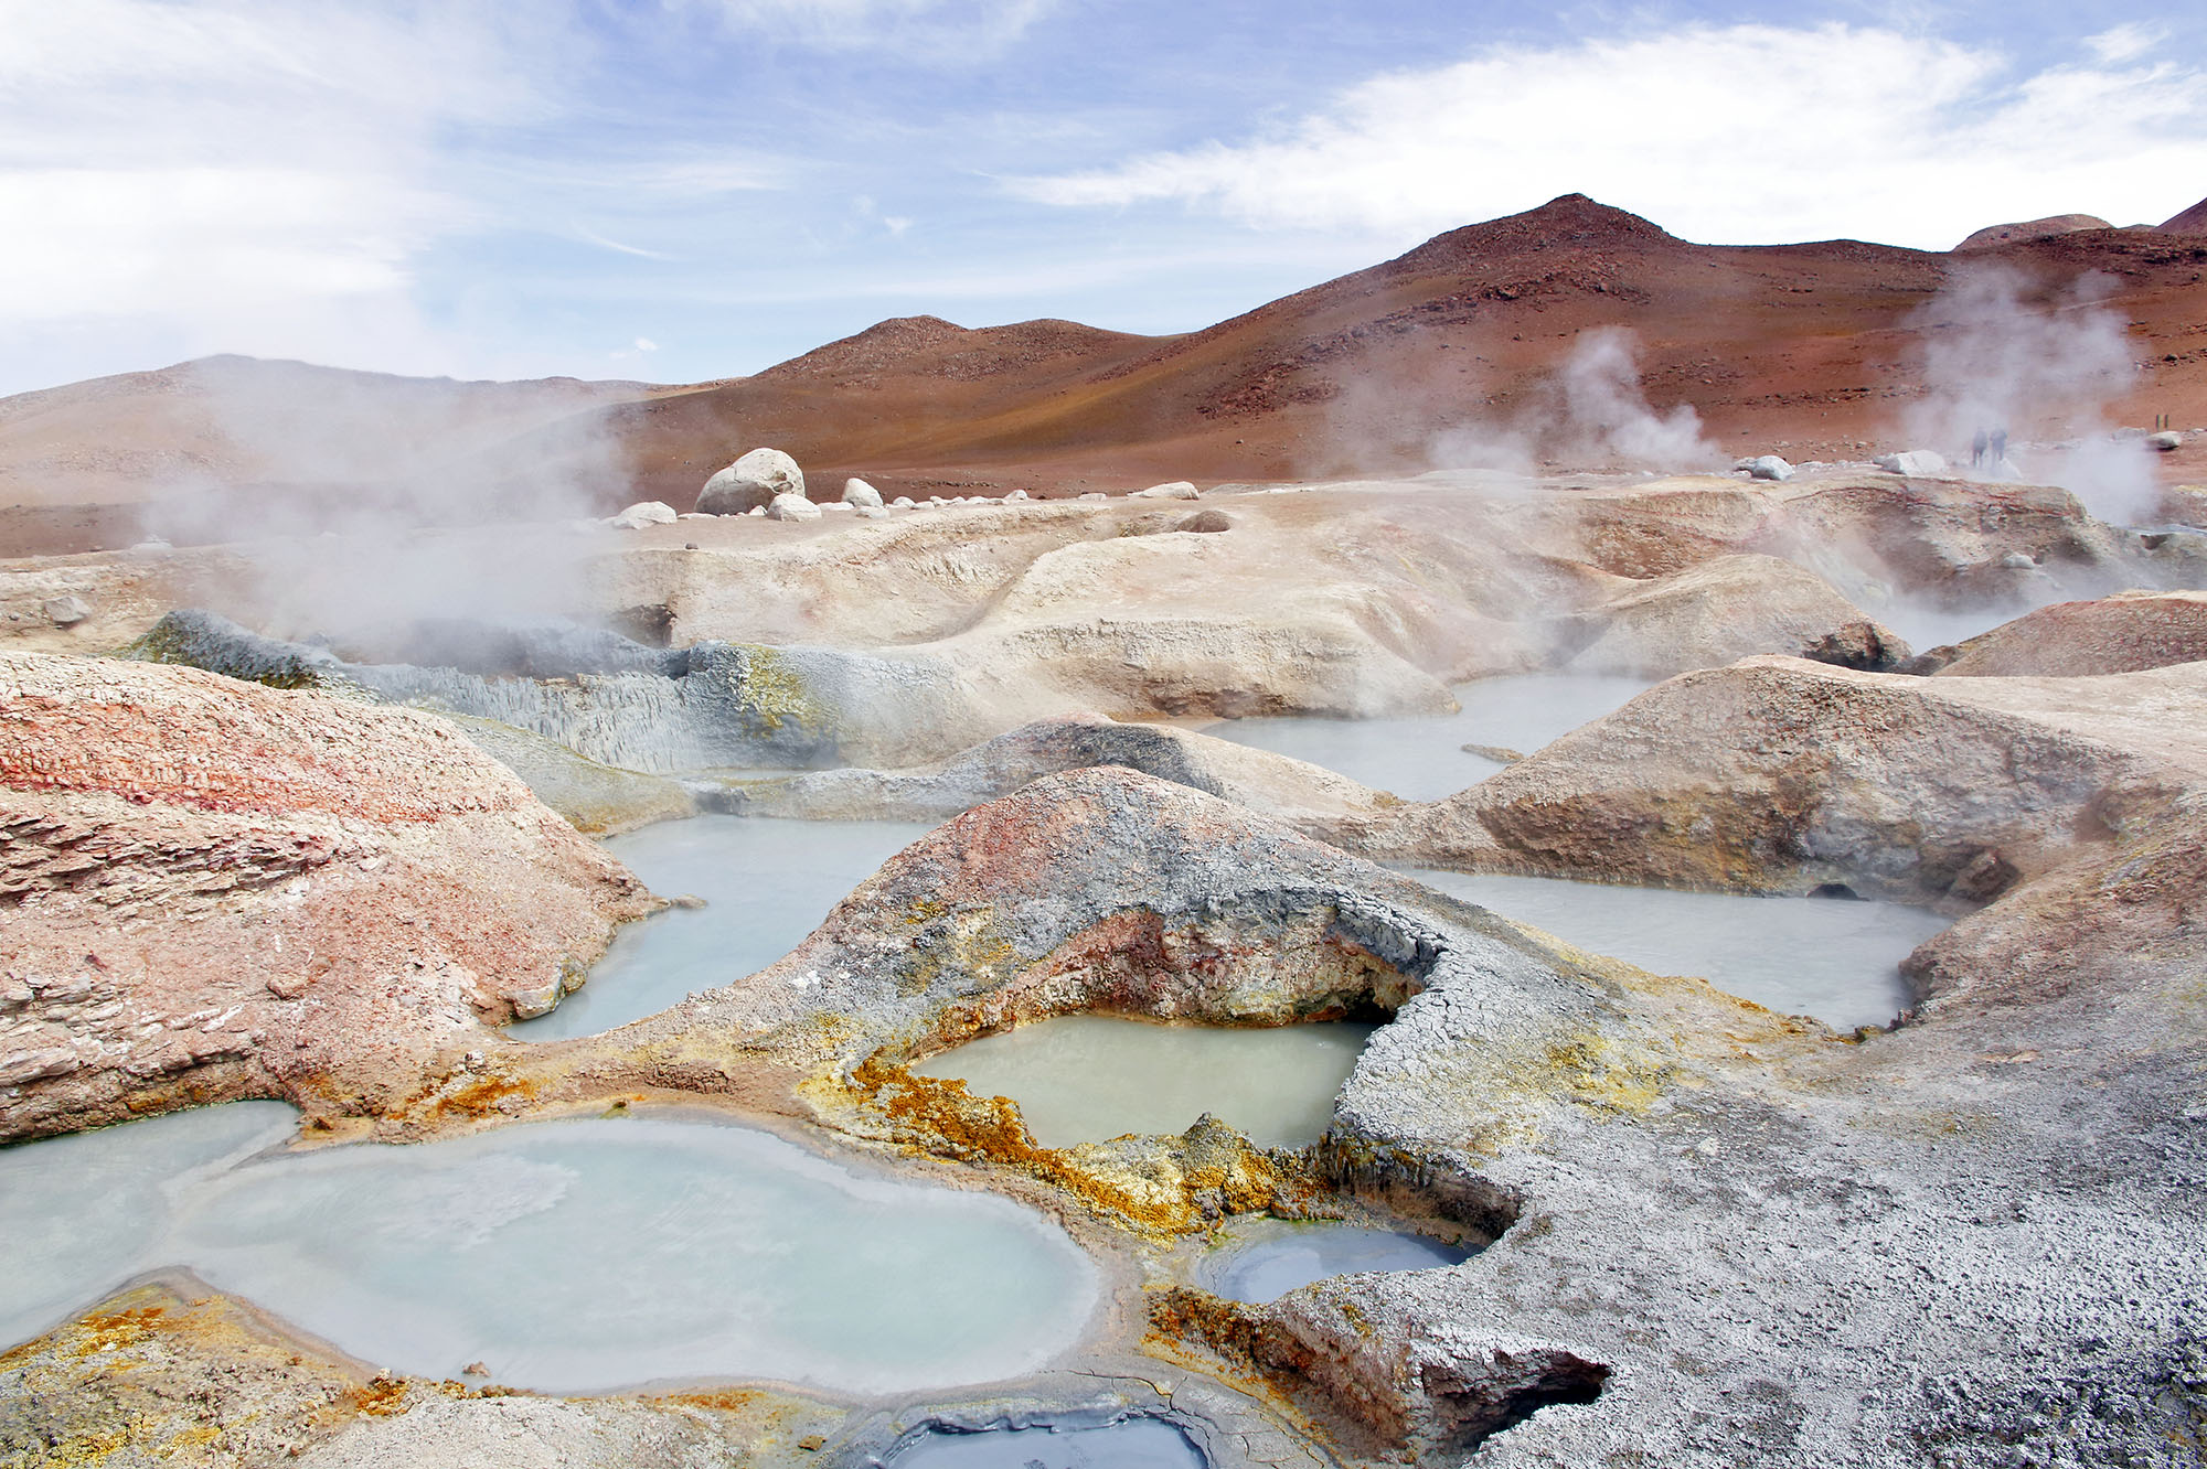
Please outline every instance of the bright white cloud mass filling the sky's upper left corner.
[[0, 0], [0, 331], [437, 357], [411, 262], [481, 223], [444, 135], [525, 121], [558, 26], [468, 0]]

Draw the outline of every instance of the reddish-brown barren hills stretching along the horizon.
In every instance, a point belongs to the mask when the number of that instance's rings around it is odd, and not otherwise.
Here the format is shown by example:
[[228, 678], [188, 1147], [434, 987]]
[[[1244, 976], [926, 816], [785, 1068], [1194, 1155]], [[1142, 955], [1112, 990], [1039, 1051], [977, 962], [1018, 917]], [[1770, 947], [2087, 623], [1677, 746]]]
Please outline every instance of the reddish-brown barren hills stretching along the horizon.
[[[1693, 408], [1710, 459], [1900, 448], [1927, 395], [1927, 304], [2004, 269], [2026, 311], [2090, 278], [2130, 322], [2117, 423], [2207, 423], [2207, 225], [2079, 229], [1927, 254], [1827, 240], [1721, 247], [1571, 194], [1176, 337], [1075, 322], [962, 329], [898, 318], [737, 377], [450, 384], [214, 360], [0, 399], [0, 549], [172, 538], [271, 507], [393, 503], [419, 518], [547, 507], [686, 510], [735, 454], [772, 443], [830, 494], [1033, 494], [1156, 479], [1267, 481], [1446, 463], [1600, 463], [1616, 373], [1578, 382], [1591, 333], [1624, 329], [1657, 419]], [[2187, 234], [2189, 232], [2189, 234]], [[214, 384], [210, 388], [210, 382]], [[1627, 379], [1629, 382], [1629, 379]], [[1576, 393], [1576, 397], [1574, 397]], [[2019, 435], [2088, 421], [2055, 408]], [[1955, 446], [1933, 446], [1953, 450]], [[2207, 457], [2187, 446], [2163, 461]], [[210, 487], [223, 494], [210, 498]], [[7, 510], [9, 505], [22, 510]]]

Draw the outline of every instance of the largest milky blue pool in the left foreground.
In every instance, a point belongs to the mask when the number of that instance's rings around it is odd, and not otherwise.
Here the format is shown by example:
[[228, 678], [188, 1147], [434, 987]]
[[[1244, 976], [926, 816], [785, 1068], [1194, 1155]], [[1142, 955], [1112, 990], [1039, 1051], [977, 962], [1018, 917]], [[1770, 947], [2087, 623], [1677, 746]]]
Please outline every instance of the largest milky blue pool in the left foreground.
[[241, 1158], [291, 1123], [232, 1105], [0, 1151], [9, 1339], [185, 1266], [430, 1379], [481, 1361], [541, 1392], [772, 1379], [887, 1394], [1031, 1372], [1081, 1337], [1101, 1290], [1031, 1209], [748, 1127], [530, 1123]]

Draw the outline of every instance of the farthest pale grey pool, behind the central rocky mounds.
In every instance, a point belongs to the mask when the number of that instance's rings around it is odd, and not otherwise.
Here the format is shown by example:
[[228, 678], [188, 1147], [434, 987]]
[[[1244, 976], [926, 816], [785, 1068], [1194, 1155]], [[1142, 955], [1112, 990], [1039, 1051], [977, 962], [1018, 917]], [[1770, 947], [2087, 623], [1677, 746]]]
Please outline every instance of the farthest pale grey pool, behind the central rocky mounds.
[[1203, 732], [1324, 765], [1404, 801], [1439, 801], [1503, 770], [1499, 761], [1468, 754], [1463, 746], [1501, 746], [1532, 754], [1552, 739], [1600, 719], [1651, 684], [1651, 679], [1593, 673], [1525, 673], [1457, 684], [1450, 693], [1463, 710], [1435, 719], [1298, 715], [1229, 719]]

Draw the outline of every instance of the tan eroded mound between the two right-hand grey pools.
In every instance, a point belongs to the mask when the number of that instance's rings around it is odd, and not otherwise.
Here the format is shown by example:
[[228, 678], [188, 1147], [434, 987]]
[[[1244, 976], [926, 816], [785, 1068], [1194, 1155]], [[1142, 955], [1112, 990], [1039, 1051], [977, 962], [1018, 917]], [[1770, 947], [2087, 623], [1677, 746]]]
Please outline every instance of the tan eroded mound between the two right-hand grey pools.
[[1918, 679], [1783, 657], [1688, 673], [1371, 849], [1494, 867], [1984, 902], [2207, 772], [2207, 666]]

